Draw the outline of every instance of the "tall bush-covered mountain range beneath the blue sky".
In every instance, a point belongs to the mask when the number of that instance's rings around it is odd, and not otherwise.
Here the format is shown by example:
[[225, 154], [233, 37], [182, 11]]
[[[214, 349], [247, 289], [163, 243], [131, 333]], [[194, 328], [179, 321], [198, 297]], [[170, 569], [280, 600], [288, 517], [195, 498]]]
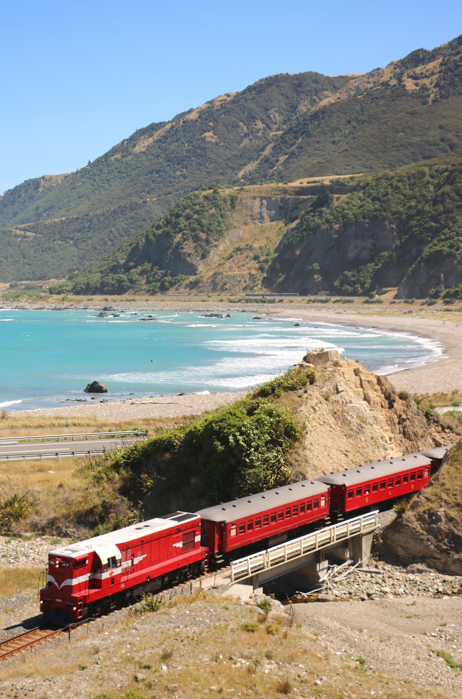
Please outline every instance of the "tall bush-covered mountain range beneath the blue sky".
[[462, 147], [462, 37], [385, 69], [273, 75], [0, 198], [0, 280], [72, 275], [189, 192], [371, 172]]

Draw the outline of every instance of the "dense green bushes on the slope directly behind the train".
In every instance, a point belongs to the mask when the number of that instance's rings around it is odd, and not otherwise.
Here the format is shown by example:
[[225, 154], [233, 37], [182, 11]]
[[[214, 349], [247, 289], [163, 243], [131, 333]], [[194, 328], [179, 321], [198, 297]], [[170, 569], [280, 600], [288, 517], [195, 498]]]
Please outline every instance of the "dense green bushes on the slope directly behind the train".
[[265, 397], [261, 387], [244, 401], [110, 452], [84, 470], [99, 484], [113, 484], [146, 517], [194, 511], [287, 483], [287, 455], [302, 432], [277, 398], [314, 382], [312, 368], [294, 370], [264, 384]]

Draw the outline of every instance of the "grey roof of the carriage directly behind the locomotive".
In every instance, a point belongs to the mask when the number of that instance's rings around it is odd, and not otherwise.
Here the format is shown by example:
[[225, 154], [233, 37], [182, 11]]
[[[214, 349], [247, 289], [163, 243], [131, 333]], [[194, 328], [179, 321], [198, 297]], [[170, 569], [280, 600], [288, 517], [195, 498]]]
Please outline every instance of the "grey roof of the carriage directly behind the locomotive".
[[205, 510], [198, 510], [197, 514], [200, 514], [202, 519], [208, 519], [213, 522], [231, 522], [243, 517], [252, 517], [254, 514], [259, 514], [259, 512], [264, 512], [264, 510], [271, 510], [273, 507], [287, 505], [294, 500], [312, 498], [320, 493], [325, 493], [327, 490], [329, 488], [324, 483], [298, 481], [297, 483], [283, 485], [280, 488], [267, 490], [264, 493], [231, 500], [229, 503], [205, 507]]

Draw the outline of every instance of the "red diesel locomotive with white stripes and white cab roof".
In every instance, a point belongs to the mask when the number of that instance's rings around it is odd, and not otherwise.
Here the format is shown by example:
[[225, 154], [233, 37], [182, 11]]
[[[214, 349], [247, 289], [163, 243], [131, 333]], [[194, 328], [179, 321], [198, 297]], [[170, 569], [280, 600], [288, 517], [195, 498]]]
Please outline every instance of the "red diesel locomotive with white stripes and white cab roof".
[[115, 607], [203, 570], [201, 518], [175, 512], [55, 549], [41, 611], [63, 622]]

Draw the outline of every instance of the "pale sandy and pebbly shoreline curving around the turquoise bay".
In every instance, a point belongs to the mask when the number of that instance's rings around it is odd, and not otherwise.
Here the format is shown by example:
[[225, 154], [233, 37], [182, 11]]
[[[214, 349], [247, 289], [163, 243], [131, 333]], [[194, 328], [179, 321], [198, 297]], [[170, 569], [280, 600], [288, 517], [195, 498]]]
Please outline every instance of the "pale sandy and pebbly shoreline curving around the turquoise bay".
[[[13, 305], [13, 304], [12, 304]], [[110, 304], [113, 310], [127, 309], [137, 310], [175, 310], [175, 311], [208, 311], [208, 312], [252, 312], [274, 318], [300, 318], [311, 322], [322, 322], [333, 325], [356, 326], [368, 329], [389, 331], [392, 333], [410, 334], [438, 342], [445, 356], [415, 368], [398, 370], [396, 373], [387, 374], [394, 384], [396, 391], [405, 390], [411, 394], [433, 394], [438, 392], [449, 393], [462, 389], [462, 323], [449, 319], [436, 319], [428, 315], [410, 314], [394, 310], [393, 315], [377, 315], [382, 309], [361, 308], [362, 312], [339, 311], [335, 306], [326, 308], [321, 304], [307, 308], [301, 303], [293, 303], [290, 306], [284, 304], [284, 308], [275, 308], [274, 305], [261, 303], [231, 304], [217, 301], [168, 301], [145, 303], [118, 301]], [[24, 306], [26, 308], [24, 308]], [[103, 307], [103, 302], [69, 304], [60, 306], [59, 310], [97, 310]], [[43, 308], [36, 304], [15, 304], [15, 308], [2, 307], [0, 310], [57, 310], [57, 307]], [[385, 309], [383, 309], [385, 310]], [[30, 410], [10, 410], [11, 417], [96, 417], [98, 419], [117, 421], [123, 419], [146, 418], [175, 418], [183, 415], [199, 415], [207, 410], [215, 410], [221, 405], [229, 405], [240, 400], [247, 391], [223, 391], [212, 394], [189, 394], [187, 396], [156, 396], [150, 401], [146, 398], [138, 398], [125, 401], [113, 401], [110, 403], [93, 403], [92, 405], [66, 405], [61, 408], [33, 408]]]

